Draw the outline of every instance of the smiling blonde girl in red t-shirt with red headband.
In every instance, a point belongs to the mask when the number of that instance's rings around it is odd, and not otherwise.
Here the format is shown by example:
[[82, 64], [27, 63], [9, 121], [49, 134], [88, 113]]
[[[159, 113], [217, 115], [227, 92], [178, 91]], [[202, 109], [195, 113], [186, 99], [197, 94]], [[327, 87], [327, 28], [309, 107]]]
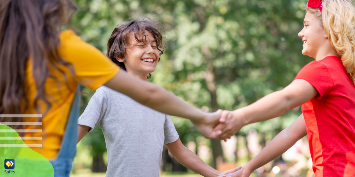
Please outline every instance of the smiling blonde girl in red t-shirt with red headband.
[[315, 177], [355, 176], [355, 7], [350, 0], [310, 0], [302, 54], [315, 58], [285, 89], [259, 101], [222, 113], [221, 138], [241, 126], [280, 116], [302, 105], [302, 115], [279, 133], [232, 177], [248, 177], [253, 170], [282, 155], [308, 135]]

